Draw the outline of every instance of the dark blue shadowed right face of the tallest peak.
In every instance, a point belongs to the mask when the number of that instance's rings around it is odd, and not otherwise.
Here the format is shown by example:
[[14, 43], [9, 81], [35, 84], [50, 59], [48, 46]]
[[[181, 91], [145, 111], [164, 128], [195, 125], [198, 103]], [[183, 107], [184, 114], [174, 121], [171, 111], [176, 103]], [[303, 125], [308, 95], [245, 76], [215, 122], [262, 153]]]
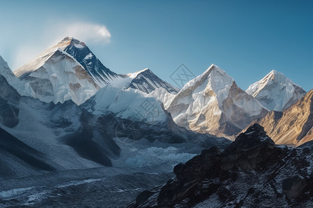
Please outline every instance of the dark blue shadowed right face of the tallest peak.
[[66, 44], [61, 49], [72, 55], [72, 57], [86, 69], [87, 73], [99, 87], [108, 85], [112, 80], [118, 77], [118, 74], [104, 67], [104, 64], [100, 62], [83, 42], [73, 37], [65, 37], [62, 42]]

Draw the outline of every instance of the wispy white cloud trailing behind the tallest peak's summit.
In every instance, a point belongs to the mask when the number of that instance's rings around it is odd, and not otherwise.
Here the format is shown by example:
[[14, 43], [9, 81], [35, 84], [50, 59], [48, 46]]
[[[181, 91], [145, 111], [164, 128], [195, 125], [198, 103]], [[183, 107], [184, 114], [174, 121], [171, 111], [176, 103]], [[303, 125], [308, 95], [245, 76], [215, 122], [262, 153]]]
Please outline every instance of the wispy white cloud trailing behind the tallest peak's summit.
[[108, 28], [102, 24], [94, 24], [90, 22], [71, 22], [68, 21], [54, 21], [42, 26], [36, 38], [24, 37], [23, 42], [18, 44], [15, 49], [15, 56], [11, 63], [12, 69], [22, 67], [23, 64], [35, 58], [50, 46], [57, 44], [66, 36], [72, 36], [86, 44], [109, 44], [111, 40], [111, 33]]

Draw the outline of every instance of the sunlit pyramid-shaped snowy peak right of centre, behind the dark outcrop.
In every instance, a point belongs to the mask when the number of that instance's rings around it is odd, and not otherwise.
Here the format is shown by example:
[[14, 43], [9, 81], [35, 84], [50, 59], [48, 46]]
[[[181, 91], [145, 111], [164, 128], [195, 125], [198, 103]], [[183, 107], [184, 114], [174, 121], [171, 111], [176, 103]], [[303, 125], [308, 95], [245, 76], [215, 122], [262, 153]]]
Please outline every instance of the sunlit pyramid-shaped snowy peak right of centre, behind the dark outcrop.
[[214, 64], [186, 83], [167, 110], [178, 125], [226, 137], [268, 112]]

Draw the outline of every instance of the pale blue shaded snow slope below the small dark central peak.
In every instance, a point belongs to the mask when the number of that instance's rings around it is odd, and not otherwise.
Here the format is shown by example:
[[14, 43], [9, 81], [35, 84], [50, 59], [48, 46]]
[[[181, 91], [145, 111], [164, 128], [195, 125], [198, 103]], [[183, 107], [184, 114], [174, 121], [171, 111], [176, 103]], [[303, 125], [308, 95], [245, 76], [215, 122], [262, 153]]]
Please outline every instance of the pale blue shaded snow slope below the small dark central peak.
[[165, 122], [167, 115], [161, 102], [145, 97], [138, 89], [120, 89], [107, 85], [82, 105], [93, 114], [114, 113], [122, 119], [145, 121], [147, 123]]

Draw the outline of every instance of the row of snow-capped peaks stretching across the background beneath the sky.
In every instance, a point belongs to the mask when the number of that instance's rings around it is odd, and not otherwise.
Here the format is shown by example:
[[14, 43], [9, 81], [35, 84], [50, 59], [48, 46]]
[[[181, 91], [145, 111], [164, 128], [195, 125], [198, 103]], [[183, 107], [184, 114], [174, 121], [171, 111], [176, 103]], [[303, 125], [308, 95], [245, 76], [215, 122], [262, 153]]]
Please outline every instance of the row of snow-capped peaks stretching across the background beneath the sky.
[[[265, 126], [264, 116], [288, 110], [306, 94], [275, 70], [245, 92], [214, 64], [178, 89], [150, 69], [125, 75], [115, 73], [104, 67], [86, 44], [73, 37], [65, 37], [14, 74], [2, 58], [0, 62], [1, 74], [22, 96], [45, 103], [72, 100], [90, 113], [113, 112], [134, 121], [166, 121], [167, 111], [183, 128], [228, 139], [234, 139], [250, 123], [259, 121]], [[157, 115], [144, 112], [142, 103], [153, 106]], [[298, 140], [305, 137], [303, 134], [298, 135]], [[273, 134], [270, 136], [276, 141]], [[282, 137], [280, 144], [284, 144]]]

